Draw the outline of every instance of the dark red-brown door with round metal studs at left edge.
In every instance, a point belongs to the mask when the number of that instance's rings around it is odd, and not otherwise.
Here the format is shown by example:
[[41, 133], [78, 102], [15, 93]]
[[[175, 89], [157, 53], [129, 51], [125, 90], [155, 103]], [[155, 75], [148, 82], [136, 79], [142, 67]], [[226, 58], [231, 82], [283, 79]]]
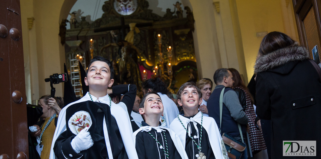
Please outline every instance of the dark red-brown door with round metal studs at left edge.
[[0, 1], [0, 158], [28, 156], [26, 88], [19, 0]]

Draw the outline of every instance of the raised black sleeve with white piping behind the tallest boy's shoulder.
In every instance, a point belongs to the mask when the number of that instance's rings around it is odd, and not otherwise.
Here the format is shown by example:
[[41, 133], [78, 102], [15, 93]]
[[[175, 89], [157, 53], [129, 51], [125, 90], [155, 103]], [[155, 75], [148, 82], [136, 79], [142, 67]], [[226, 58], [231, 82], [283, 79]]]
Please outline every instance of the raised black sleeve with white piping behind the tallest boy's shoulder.
[[128, 115], [130, 116], [137, 93], [137, 87], [135, 84], [119, 84], [112, 87], [113, 94], [120, 96], [124, 95], [123, 99], [120, 102], [126, 104]]

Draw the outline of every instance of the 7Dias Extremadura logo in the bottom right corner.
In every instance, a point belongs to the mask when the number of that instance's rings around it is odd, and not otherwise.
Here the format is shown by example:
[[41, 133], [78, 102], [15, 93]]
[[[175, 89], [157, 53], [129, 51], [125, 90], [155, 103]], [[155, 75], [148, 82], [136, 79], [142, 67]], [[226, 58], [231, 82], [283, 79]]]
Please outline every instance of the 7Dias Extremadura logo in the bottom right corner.
[[316, 156], [317, 141], [283, 141], [283, 156]]

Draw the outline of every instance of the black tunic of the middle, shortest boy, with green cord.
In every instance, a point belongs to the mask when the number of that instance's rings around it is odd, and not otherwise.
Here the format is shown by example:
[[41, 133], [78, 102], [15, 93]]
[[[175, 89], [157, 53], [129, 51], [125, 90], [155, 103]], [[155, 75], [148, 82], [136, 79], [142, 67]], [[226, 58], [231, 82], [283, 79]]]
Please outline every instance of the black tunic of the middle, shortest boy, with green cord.
[[[142, 126], [149, 126], [147, 123], [142, 121]], [[166, 130], [166, 129], [164, 129]], [[149, 131], [163, 146], [166, 150], [164, 133], [158, 133], [155, 129]], [[167, 146], [168, 146], [168, 155], [169, 159], [181, 159], [172, 138], [170, 137], [169, 131], [165, 131]], [[163, 149], [160, 149], [159, 144], [155, 139], [146, 131], [138, 132], [136, 135], [136, 151], [139, 159], [166, 159]]]

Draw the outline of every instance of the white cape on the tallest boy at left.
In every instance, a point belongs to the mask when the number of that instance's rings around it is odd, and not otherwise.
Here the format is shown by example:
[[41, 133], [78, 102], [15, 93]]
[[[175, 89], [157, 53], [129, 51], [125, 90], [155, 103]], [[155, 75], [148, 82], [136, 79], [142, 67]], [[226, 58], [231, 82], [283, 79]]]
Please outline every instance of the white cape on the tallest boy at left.
[[[97, 100], [97, 98], [92, 95], [91, 95], [91, 97], [92, 97], [92, 100], [95, 102], [99, 101], [101, 103], [105, 103], [105, 104], [109, 105], [110, 100], [109, 100], [108, 95], [106, 95], [104, 97], [100, 97], [99, 100]], [[55, 153], [54, 153], [54, 146], [55, 146], [56, 139], [59, 137], [59, 135], [61, 133], [66, 131], [66, 109], [70, 105], [73, 105], [75, 103], [85, 102], [85, 101], [90, 101], [90, 100], [91, 99], [89, 97], [89, 94], [87, 93], [80, 100], [68, 104], [60, 111], [56, 131], [55, 131], [54, 138], [53, 138], [52, 144], [51, 144], [49, 159], [56, 158]], [[132, 138], [133, 129], [132, 129], [132, 125], [131, 125], [128, 113], [122, 107], [118, 106], [114, 102], [111, 102], [110, 112], [111, 112], [111, 115], [116, 119], [117, 126], [118, 126], [119, 132], [121, 134], [128, 158], [129, 159], [138, 159], [136, 149], [133, 148], [134, 147], [133, 138]], [[108, 132], [107, 132], [105, 117], [104, 117], [103, 126], [104, 126], [103, 130], [104, 130], [104, 135], [105, 135], [105, 142], [106, 142], [106, 146], [107, 146], [108, 157], [110, 159], [113, 159], [112, 151], [111, 151], [111, 147], [110, 147], [110, 143], [109, 143], [109, 136], [108, 136]]]

